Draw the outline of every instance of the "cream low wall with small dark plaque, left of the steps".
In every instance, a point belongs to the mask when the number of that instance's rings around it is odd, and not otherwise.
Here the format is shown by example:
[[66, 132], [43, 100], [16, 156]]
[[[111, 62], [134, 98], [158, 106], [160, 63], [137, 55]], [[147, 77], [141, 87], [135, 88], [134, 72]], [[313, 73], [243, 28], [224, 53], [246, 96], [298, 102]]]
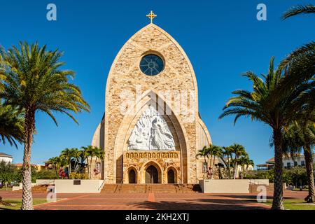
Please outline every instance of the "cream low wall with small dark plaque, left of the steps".
[[55, 193], [100, 193], [103, 180], [55, 180]]

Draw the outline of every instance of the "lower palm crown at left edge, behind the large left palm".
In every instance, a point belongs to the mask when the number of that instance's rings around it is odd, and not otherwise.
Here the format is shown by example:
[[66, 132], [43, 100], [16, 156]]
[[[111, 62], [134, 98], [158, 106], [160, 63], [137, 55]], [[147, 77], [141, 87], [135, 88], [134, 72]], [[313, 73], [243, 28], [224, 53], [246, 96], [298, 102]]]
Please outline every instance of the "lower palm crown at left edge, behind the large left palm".
[[22, 113], [12, 106], [4, 106], [0, 101], [0, 142], [18, 147], [15, 140], [23, 141], [24, 118]]

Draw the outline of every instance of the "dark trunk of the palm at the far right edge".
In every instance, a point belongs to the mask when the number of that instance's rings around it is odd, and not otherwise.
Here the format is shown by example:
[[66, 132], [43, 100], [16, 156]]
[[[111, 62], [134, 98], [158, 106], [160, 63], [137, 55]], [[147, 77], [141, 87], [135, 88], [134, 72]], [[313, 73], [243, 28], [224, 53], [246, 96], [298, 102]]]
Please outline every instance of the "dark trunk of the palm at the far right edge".
[[313, 155], [311, 155], [311, 146], [304, 146], [305, 166], [307, 169], [307, 182], [309, 185], [309, 195], [305, 199], [308, 203], [314, 203], [314, 171], [313, 171]]

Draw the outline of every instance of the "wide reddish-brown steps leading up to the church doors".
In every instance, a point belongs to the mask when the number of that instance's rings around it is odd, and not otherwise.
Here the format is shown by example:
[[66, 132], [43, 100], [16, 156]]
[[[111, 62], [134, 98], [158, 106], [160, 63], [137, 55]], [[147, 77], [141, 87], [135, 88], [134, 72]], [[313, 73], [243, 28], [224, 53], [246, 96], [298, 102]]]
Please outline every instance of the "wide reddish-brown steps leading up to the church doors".
[[198, 184], [104, 184], [101, 193], [200, 193]]

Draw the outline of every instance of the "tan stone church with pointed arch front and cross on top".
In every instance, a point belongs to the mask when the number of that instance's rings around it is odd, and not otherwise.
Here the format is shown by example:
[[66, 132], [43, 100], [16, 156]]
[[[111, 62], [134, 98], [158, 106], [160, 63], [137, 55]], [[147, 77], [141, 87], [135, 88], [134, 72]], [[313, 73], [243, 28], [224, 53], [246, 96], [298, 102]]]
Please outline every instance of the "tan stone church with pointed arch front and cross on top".
[[211, 137], [198, 111], [193, 66], [153, 18], [109, 71], [105, 113], [92, 139], [105, 151], [94, 179], [105, 183], [197, 183], [207, 168], [196, 158]]

